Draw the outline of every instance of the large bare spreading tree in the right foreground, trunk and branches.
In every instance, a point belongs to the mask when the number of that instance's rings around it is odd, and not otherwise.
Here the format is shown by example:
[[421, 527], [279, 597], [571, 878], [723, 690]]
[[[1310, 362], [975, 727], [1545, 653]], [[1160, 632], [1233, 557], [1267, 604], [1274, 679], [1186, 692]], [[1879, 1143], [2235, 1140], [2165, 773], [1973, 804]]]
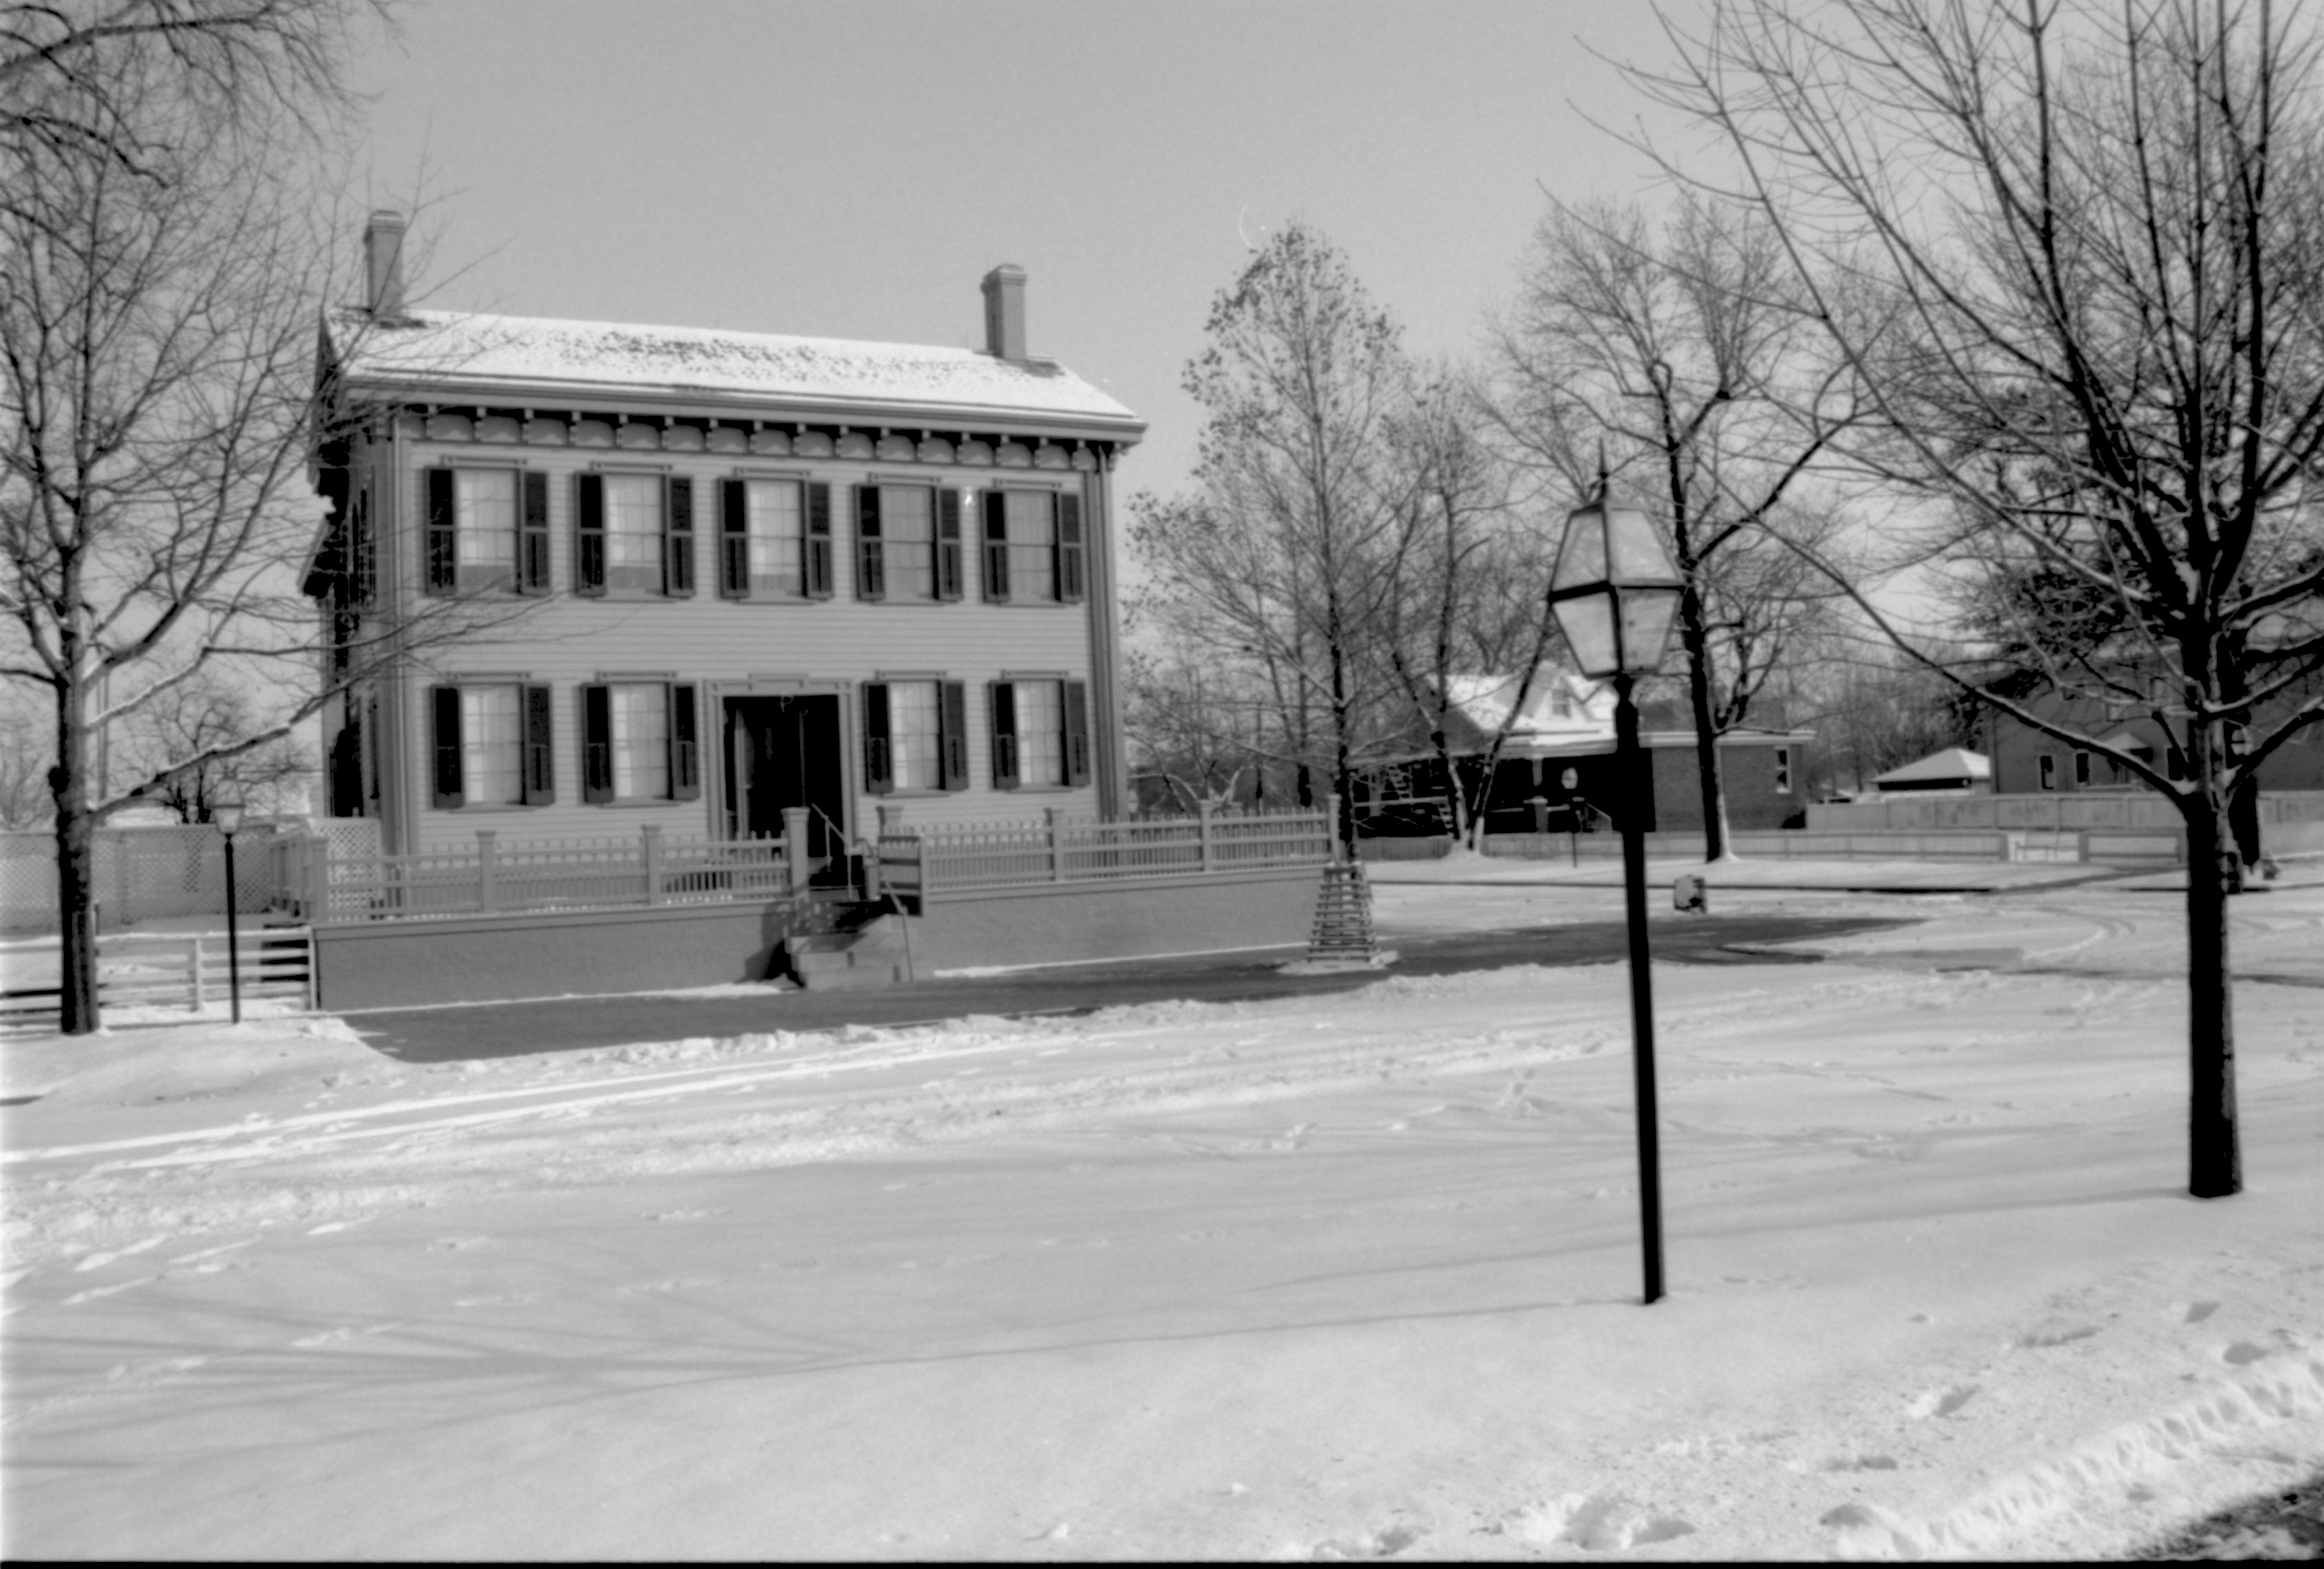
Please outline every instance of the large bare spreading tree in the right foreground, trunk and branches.
[[[2059, 690], [2103, 697], [2122, 679], [2173, 737], [2180, 776], [2071, 704], [1987, 693], [2178, 807], [2189, 1190], [2238, 1192], [2229, 811], [2324, 718], [2312, 12], [1717, 0], [1699, 35], [1671, 37], [1678, 63], [1631, 77], [1734, 153], [1722, 179], [1773, 225], [1878, 414], [1850, 460], [1934, 504], [1966, 576], [2054, 574], [2103, 607], [2080, 674], [2052, 660]], [[1843, 288], [1885, 300], [1882, 330], [1843, 309]], [[1943, 649], [1866, 616], [1966, 683]]]

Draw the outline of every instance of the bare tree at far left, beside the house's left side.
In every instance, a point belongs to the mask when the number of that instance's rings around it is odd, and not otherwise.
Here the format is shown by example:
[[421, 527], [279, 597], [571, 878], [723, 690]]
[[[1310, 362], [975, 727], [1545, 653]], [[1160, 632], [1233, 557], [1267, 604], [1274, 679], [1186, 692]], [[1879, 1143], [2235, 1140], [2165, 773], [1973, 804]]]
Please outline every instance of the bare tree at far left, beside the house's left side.
[[[346, 16], [16, 7], [0, 44], [0, 676], [51, 711], [65, 1034], [98, 1027], [98, 821], [263, 753], [393, 646], [474, 623], [451, 604], [325, 662], [300, 593], [307, 460], [332, 435], [311, 377], [335, 246], [307, 170]], [[249, 725], [98, 779], [95, 737], [225, 672], [253, 676]]]

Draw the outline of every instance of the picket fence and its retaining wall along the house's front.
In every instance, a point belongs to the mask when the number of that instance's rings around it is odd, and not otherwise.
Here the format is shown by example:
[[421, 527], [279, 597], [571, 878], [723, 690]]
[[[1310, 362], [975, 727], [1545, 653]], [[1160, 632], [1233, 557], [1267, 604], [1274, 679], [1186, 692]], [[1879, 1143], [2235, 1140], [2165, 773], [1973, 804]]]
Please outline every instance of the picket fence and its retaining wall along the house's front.
[[[272, 904], [314, 927], [328, 1009], [767, 981], [865, 983], [985, 965], [1299, 944], [1332, 858], [1329, 811], [906, 825], [811, 855], [781, 839], [500, 844], [423, 855], [270, 851]], [[874, 930], [876, 927], [876, 930]], [[818, 979], [820, 976], [820, 979]]]

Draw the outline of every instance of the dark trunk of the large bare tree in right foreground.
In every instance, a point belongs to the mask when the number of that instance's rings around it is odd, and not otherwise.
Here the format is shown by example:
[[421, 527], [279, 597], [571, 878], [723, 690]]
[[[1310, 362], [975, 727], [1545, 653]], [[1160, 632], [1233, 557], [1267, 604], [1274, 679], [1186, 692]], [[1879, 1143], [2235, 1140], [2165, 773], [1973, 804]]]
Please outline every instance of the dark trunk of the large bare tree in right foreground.
[[2224, 1199], [2243, 1192], [2243, 1151], [2236, 1137], [2236, 1016], [2226, 972], [2226, 895], [2243, 872], [2226, 800], [2212, 758], [2196, 741], [2194, 795], [2187, 818], [2187, 1192]]

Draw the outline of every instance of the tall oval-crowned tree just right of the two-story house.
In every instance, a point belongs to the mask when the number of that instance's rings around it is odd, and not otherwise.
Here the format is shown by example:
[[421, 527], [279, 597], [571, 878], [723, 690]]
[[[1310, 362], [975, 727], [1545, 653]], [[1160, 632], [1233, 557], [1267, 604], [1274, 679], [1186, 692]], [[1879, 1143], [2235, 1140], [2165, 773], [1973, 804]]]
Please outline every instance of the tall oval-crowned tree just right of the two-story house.
[[1255, 672], [1301, 769], [1329, 762], [1353, 844], [1353, 765], [1376, 714], [1364, 644], [1394, 509], [1380, 465], [1406, 397], [1397, 328], [1315, 230], [1285, 225], [1220, 291], [1185, 372], [1206, 411], [1192, 497], [1132, 500], [1146, 614]]

